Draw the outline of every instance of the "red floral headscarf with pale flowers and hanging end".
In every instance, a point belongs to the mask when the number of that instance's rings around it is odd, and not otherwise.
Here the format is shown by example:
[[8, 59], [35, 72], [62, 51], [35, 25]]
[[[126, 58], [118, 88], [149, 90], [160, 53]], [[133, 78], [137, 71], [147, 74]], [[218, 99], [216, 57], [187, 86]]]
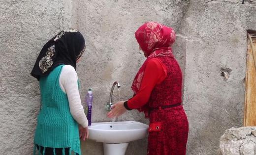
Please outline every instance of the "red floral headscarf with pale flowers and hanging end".
[[[159, 56], [173, 57], [171, 45], [175, 41], [176, 34], [171, 27], [164, 26], [157, 22], [148, 22], [138, 28], [135, 32], [135, 38], [137, 39], [142, 51], [148, 55], [147, 59], [135, 76], [131, 86], [134, 94], [137, 94], [140, 89], [141, 80], [143, 78], [147, 62], [150, 59]], [[147, 117], [147, 104], [138, 110], [144, 111]]]

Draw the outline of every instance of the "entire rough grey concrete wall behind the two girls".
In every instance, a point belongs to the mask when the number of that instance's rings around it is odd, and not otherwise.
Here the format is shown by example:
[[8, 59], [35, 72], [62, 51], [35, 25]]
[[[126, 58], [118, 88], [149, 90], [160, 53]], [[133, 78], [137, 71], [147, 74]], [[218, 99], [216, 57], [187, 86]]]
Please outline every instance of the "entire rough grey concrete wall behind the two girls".
[[[0, 1], [0, 152], [30, 155], [39, 109], [39, 87], [29, 74], [44, 43], [63, 28], [78, 28], [87, 42], [78, 64], [81, 97], [94, 93], [93, 122], [106, 118], [115, 80], [120, 99], [145, 58], [134, 32], [146, 21], [174, 27], [174, 53], [184, 72], [184, 107], [190, 121], [188, 155], [216, 155], [225, 129], [242, 126], [246, 30], [256, 29], [256, 4], [242, 0], [10, 0]], [[228, 80], [222, 69], [231, 69]], [[118, 100], [114, 92], [114, 102]], [[129, 111], [118, 121], [148, 123]], [[146, 155], [147, 139], [129, 143], [127, 155]], [[101, 155], [101, 143], [82, 143]]]

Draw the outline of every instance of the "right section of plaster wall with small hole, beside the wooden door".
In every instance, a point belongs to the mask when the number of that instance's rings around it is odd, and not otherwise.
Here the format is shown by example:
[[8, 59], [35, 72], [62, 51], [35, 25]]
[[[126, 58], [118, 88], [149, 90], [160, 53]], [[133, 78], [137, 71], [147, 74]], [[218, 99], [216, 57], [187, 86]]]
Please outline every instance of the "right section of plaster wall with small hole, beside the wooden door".
[[[180, 26], [186, 40], [184, 107], [188, 155], [216, 155], [225, 129], [241, 127], [247, 29], [256, 29], [256, 5], [238, 0], [191, 1]], [[231, 69], [228, 80], [222, 69]]]

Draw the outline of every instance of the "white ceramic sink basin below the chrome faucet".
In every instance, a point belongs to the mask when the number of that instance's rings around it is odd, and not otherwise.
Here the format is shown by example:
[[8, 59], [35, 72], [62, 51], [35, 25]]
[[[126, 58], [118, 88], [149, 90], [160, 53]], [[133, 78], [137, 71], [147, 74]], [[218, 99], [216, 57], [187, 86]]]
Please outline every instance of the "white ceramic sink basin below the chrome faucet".
[[135, 121], [92, 123], [89, 139], [108, 144], [128, 143], [145, 138], [148, 127]]

